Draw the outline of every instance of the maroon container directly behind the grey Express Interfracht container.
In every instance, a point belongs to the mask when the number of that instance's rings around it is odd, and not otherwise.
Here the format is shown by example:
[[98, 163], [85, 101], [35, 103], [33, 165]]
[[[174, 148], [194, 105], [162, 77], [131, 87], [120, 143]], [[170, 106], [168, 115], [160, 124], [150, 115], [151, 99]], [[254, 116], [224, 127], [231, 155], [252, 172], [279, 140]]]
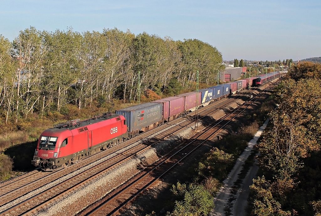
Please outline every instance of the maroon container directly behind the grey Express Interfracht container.
[[184, 98], [179, 96], [163, 98], [152, 101], [154, 103], [161, 103], [163, 106], [163, 120], [166, 122], [172, 121], [184, 114]]

